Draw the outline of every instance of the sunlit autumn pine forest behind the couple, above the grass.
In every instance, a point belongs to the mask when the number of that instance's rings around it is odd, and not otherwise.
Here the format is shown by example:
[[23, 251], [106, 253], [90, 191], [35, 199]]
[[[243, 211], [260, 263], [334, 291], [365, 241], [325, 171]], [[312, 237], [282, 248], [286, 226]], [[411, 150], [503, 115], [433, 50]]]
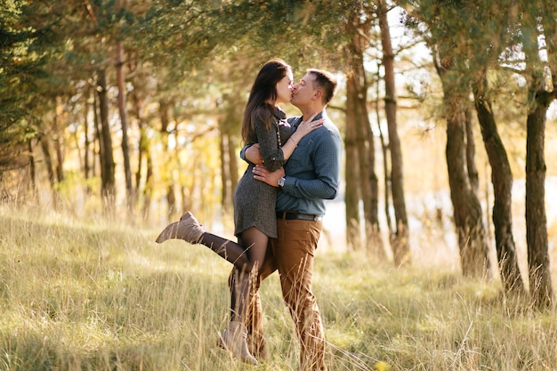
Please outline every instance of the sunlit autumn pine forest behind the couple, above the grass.
[[324, 251], [448, 267], [553, 308], [553, 2], [3, 2], [6, 220], [150, 231], [191, 210], [231, 238], [246, 96], [280, 57], [295, 80], [341, 83]]

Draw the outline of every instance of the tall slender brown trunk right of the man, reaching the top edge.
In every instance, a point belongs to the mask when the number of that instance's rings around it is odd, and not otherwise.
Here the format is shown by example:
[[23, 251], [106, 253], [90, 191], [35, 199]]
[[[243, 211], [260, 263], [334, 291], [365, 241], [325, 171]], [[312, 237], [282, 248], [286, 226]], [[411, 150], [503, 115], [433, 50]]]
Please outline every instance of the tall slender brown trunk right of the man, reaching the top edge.
[[395, 233], [391, 237], [392, 255], [395, 266], [410, 263], [410, 243], [408, 240], [408, 216], [404, 199], [404, 173], [402, 152], [397, 129], [397, 101], [394, 81], [394, 54], [392, 52], [391, 33], [387, 20], [388, 6], [382, 0], [379, 9], [379, 28], [381, 29], [381, 45], [383, 47], [383, 68], [385, 71], [385, 116], [389, 131], [389, 149], [391, 153], [391, 189], [392, 206], [394, 208]]

